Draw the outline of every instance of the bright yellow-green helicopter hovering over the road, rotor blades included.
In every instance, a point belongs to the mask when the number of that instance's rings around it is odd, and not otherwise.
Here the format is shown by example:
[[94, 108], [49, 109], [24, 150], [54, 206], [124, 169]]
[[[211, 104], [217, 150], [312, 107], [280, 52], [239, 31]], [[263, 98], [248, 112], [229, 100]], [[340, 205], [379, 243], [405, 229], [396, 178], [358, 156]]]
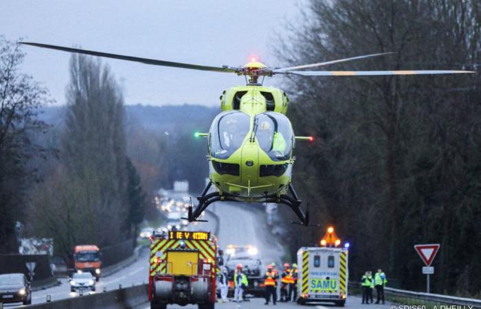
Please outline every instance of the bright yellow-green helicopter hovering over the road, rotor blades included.
[[[302, 201], [291, 183], [296, 141], [313, 141], [313, 137], [296, 136], [291, 122], [286, 117], [289, 98], [276, 87], [264, 87], [265, 77], [284, 76], [392, 76], [421, 74], [475, 73], [462, 70], [416, 70], [416, 71], [305, 71], [338, 62], [394, 54], [383, 52], [355, 56], [338, 60], [317, 62], [293, 67], [267, 67], [256, 58], [238, 67], [223, 65], [211, 67], [190, 63], [172, 62], [87, 49], [19, 42], [24, 45], [56, 49], [63, 52], [87, 54], [119, 60], [141, 62], [147, 65], [177, 67], [201, 71], [234, 73], [244, 76], [245, 86], [232, 87], [223, 91], [221, 113], [216, 115], [208, 133], [196, 133], [208, 139], [209, 182], [197, 199], [193, 209], [188, 207], [189, 222], [203, 221], [199, 217], [208, 206], [218, 201], [245, 203], [278, 203], [289, 206], [300, 222], [309, 226], [309, 209], [305, 213]], [[209, 193], [214, 185], [215, 189]]]

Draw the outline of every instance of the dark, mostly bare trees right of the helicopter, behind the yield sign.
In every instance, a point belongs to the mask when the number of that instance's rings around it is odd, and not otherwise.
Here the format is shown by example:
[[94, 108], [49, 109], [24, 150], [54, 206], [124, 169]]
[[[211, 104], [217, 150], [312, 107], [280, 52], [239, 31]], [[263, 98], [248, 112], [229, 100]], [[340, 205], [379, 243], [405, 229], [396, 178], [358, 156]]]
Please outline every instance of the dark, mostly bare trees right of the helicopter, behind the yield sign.
[[[479, 72], [476, 0], [313, 0], [304, 17], [279, 48], [288, 65], [394, 52], [328, 69]], [[423, 290], [413, 246], [440, 243], [432, 291], [479, 296], [480, 74], [296, 77], [284, 89], [295, 132], [316, 137], [298, 143], [293, 183], [311, 221], [350, 241], [350, 279], [383, 268]], [[324, 233], [289, 229], [292, 254]]]

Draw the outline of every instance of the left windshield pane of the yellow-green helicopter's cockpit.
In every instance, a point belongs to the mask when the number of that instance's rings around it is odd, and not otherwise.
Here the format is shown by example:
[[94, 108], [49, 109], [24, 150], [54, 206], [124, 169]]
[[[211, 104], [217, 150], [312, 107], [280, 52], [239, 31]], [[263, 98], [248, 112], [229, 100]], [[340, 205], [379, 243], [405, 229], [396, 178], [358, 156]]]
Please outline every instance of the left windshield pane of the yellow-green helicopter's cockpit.
[[230, 157], [242, 146], [249, 127], [250, 118], [243, 112], [229, 111], [219, 114], [210, 127], [212, 157]]

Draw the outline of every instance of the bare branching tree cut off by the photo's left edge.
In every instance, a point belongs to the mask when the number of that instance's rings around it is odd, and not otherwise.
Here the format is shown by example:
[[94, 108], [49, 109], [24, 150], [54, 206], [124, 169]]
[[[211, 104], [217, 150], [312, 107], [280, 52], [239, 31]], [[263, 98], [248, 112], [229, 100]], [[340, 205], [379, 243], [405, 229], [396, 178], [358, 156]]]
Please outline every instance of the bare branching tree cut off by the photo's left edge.
[[33, 144], [30, 135], [45, 133], [38, 108], [50, 102], [47, 90], [19, 67], [24, 54], [19, 45], [0, 36], [0, 251], [18, 252], [16, 221], [23, 221], [25, 194], [36, 178], [29, 165], [51, 150]]

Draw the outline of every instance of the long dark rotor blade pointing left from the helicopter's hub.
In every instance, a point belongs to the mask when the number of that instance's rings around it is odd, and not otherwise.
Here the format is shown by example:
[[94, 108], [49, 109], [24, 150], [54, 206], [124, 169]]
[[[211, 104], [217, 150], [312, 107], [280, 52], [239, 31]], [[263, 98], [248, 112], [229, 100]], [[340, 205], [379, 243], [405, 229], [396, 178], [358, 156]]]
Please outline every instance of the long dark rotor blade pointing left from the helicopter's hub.
[[57, 46], [57, 45], [47, 45], [47, 44], [31, 43], [31, 42], [19, 42], [19, 44], [56, 49], [56, 50], [61, 50], [63, 52], [71, 52], [76, 54], [85, 54], [90, 56], [113, 58], [113, 59], [127, 60], [127, 61], [133, 61], [133, 62], [142, 62], [146, 65], [160, 65], [162, 67], [180, 67], [182, 69], [194, 69], [194, 70], [201, 70], [201, 71], [214, 71], [214, 72], [227, 72], [227, 73], [236, 73], [238, 71], [236, 67], [227, 67], [227, 65], [223, 67], [208, 67], [205, 65], [191, 65], [190, 63], [181, 63], [181, 62], [148, 59], [148, 58], [139, 58], [139, 57], [133, 57], [133, 56], [124, 56], [124, 55], [118, 55], [118, 54], [109, 54], [104, 52], [95, 52], [87, 49], [78, 49], [78, 48], [63, 47], [63, 46]]

